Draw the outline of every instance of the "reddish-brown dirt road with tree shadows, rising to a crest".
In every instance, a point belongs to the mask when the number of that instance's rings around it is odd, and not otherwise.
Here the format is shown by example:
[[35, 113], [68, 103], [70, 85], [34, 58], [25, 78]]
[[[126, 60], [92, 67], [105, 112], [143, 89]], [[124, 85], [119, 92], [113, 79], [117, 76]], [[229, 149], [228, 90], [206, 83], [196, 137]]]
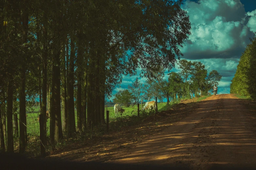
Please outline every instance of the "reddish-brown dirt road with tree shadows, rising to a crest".
[[162, 131], [129, 147], [119, 147], [118, 151], [108, 149], [93, 156], [85, 150], [74, 149], [79, 157], [72, 157], [70, 152], [51, 157], [111, 163], [185, 164], [191, 169], [209, 169], [218, 164], [255, 167], [255, 113], [252, 102], [232, 94], [213, 95], [189, 108], [181, 120], [172, 124], [165, 122], [166, 128]]

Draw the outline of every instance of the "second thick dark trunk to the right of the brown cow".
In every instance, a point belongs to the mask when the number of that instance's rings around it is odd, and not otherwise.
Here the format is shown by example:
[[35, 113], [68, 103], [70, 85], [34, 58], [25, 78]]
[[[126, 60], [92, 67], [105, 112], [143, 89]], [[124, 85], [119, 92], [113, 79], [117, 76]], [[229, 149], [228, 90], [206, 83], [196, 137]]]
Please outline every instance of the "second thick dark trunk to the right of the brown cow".
[[75, 43], [74, 38], [71, 36], [70, 41], [70, 62], [69, 73], [67, 76], [67, 136], [68, 138], [76, 132], [75, 122], [75, 104], [74, 104], [74, 59], [75, 59]]

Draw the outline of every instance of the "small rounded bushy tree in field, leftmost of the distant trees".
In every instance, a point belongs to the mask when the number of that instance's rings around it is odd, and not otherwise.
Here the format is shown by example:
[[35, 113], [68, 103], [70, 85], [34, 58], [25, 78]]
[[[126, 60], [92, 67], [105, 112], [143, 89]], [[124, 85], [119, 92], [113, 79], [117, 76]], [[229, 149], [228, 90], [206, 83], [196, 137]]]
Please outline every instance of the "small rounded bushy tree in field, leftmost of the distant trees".
[[116, 104], [123, 104], [124, 106], [128, 107], [129, 103], [133, 99], [133, 95], [128, 90], [120, 90], [116, 94], [114, 94], [115, 98], [113, 102]]

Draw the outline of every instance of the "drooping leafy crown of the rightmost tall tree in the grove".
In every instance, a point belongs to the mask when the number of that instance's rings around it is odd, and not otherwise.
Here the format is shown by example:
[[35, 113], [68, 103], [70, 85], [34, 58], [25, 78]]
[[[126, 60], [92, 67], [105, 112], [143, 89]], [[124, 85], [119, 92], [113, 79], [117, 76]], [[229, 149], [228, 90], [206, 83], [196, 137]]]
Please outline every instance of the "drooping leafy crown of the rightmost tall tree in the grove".
[[[186, 11], [181, 9], [181, 0], [104, 3], [106, 4], [95, 2], [93, 5], [97, 10], [90, 15], [94, 18], [90, 20], [93, 21], [90, 25], [97, 28], [94, 30], [97, 36], [90, 37], [92, 46], [89, 52], [89, 67], [92, 72], [96, 71], [97, 61], [93, 61], [93, 57], [96, 56], [96, 51], [105, 49], [103, 54], [108, 54], [106, 68], [112, 72], [106, 74], [107, 87], [111, 88], [112, 85], [119, 83], [122, 75], [135, 75], [139, 66], [142, 68], [142, 77], [154, 77], [154, 72], [161, 69], [160, 65], [168, 70], [174, 66], [175, 57], [182, 55], [179, 47], [190, 34], [191, 28]], [[109, 75], [113, 76], [108, 77]], [[89, 73], [88, 87], [89, 81], [93, 81], [96, 76], [97, 74]], [[108, 80], [112, 78], [112, 85], [108, 85]], [[89, 92], [94, 90], [89, 89], [88, 100], [95, 101]], [[108, 91], [111, 92], [111, 89]], [[93, 106], [88, 104], [88, 114], [93, 109], [90, 107]]]

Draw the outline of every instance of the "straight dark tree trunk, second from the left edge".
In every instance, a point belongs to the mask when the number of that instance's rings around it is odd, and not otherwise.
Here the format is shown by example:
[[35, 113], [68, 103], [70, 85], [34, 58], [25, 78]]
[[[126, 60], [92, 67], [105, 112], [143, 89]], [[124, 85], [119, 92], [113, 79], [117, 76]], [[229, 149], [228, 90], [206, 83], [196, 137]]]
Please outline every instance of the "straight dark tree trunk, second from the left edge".
[[8, 82], [7, 92], [7, 152], [13, 153], [13, 124], [12, 124], [12, 110], [13, 110], [13, 80]]

